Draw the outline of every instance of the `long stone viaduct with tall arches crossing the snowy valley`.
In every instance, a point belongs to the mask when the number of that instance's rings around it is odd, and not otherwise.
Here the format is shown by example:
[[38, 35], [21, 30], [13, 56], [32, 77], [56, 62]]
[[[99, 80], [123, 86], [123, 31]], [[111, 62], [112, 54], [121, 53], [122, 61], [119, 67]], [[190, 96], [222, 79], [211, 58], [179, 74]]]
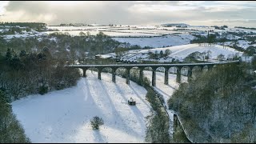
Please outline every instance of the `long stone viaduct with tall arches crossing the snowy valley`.
[[104, 68], [111, 68], [112, 69], [112, 81], [115, 82], [116, 70], [118, 68], [125, 68], [126, 69], [126, 84], [130, 84], [130, 69], [137, 67], [139, 69], [139, 79], [142, 80], [143, 78], [143, 70], [146, 67], [151, 67], [152, 69], [152, 86], [156, 84], [156, 70], [158, 67], [165, 68], [165, 78], [164, 83], [168, 85], [168, 74], [169, 69], [171, 67], [176, 67], [177, 70], [177, 77], [176, 82], [181, 82], [181, 70], [183, 67], [188, 68], [188, 81], [192, 77], [192, 70], [195, 66], [200, 67], [200, 70], [207, 66], [207, 69], [210, 70], [216, 65], [223, 65], [229, 63], [238, 63], [239, 61], [229, 61], [229, 62], [205, 62], [205, 63], [178, 63], [178, 64], [110, 64], [110, 65], [67, 65], [66, 67], [69, 68], [81, 68], [83, 70], [83, 76], [86, 77], [86, 70], [89, 68], [97, 68], [98, 69], [98, 79], [101, 79], [102, 70]]

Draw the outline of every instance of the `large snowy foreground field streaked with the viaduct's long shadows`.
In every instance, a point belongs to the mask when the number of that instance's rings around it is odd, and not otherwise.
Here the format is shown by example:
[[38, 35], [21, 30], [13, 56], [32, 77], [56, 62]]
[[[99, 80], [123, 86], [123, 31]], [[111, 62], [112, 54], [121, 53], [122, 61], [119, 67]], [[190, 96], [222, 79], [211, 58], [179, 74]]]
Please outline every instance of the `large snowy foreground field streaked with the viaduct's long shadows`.
[[[45, 95], [30, 95], [12, 103], [31, 142], [144, 142], [150, 103], [146, 90], [117, 76], [87, 72], [78, 85]], [[127, 105], [132, 97], [136, 106]], [[100, 130], [92, 130], [90, 119], [103, 118]]]

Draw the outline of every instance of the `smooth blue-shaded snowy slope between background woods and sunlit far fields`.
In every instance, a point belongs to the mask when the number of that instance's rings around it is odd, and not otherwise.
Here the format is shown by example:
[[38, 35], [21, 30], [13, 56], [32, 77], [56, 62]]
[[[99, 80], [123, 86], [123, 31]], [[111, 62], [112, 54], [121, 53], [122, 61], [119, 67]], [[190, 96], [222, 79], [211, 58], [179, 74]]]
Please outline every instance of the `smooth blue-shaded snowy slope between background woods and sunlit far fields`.
[[194, 39], [193, 35], [190, 34], [170, 34], [162, 37], [154, 37], [154, 38], [113, 38], [118, 42], [127, 42], [131, 45], [138, 46], [151, 46], [154, 48], [162, 47], [162, 46], [179, 46], [189, 44], [192, 39]]

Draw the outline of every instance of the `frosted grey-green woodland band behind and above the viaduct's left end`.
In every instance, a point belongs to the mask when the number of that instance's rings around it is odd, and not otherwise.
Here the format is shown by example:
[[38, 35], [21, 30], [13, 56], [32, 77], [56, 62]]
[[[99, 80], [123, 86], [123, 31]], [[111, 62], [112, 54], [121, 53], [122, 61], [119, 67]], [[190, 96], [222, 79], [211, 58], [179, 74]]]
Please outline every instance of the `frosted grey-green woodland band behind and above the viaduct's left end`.
[[[97, 35], [84, 34], [81, 36], [70, 36], [70, 34], [54, 33], [49, 34], [46, 38], [12, 38], [6, 41], [0, 39], [2, 51], [8, 48], [13, 50], [34, 50], [40, 51], [44, 47], [48, 47], [51, 54], [57, 54], [56, 57], [61, 58], [78, 58], [85, 57], [86, 52], [89, 55], [106, 54], [114, 51], [119, 46], [119, 42], [114, 41], [103, 33]], [[66, 55], [70, 53], [70, 55]]]

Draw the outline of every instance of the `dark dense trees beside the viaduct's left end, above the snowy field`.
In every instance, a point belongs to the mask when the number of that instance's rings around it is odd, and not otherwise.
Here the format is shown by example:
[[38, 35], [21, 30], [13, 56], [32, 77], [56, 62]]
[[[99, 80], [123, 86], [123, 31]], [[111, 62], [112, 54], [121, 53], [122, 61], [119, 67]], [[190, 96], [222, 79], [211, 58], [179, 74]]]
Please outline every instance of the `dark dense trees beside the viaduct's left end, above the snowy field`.
[[79, 78], [78, 70], [65, 68], [64, 62], [53, 58], [46, 47], [39, 53], [8, 49], [0, 57], [0, 66], [0, 87], [10, 101], [74, 86]]

